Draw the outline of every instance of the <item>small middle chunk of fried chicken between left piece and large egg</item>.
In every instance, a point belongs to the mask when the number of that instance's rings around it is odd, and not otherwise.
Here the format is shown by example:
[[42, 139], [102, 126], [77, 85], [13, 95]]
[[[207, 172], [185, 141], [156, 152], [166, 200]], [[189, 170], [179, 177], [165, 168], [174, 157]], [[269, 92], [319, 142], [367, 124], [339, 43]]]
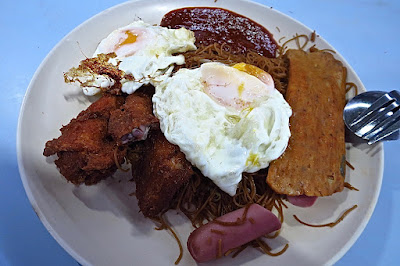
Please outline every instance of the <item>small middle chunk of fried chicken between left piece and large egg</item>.
[[144, 140], [158, 119], [153, 115], [151, 97], [142, 92], [129, 95], [120, 109], [111, 112], [108, 132], [119, 144]]

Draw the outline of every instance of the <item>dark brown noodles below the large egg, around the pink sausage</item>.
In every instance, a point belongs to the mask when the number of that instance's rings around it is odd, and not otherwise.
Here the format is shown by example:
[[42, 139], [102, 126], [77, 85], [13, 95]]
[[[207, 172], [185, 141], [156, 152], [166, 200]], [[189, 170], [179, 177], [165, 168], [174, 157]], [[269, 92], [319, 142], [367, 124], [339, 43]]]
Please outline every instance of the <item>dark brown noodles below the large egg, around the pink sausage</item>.
[[[247, 209], [252, 203], [257, 203], [270, 211], [276, 211], [278, 218], [283, 222], [283, 208], [287, 206], [283, 203], [281, 195], [275, 193], [265, 182], [267, 175], [266, 170], [260, 170], [257, 173], [244, 173], [242, 181], [238, 185], [237, 193], [231, 197], [220, 190], [210, 179], [204, 177], [198, 170], [189, 183], [176, 197], [172, 208], [179, 209], [191, 221], [195, 228], [198, 228], [208, 221], [214, 221], [224, 226], [240, 225], [246, 221]], [[235, 222], [221, 222], [218, 217], [232, 212], [234, 210], [245, 208], [243, 216]], [[224, 232], [218, 232], [224, 234]], [[279, 235], [279, 231], [271, 236], [260, 237], [250, 243], [247, 243], [234, 250], [226, 252], [224, 255], [233, 253], [233, 257], [237, 256], [248, 245], [260, 248], [266, 254], [271, 256], [280, 255], [286, 251], [285, 246], [278, 253], [271, 253], [270, 248], [264, 239], [275, 238]], [[257, 243], [263, 243], [262, 246]]]

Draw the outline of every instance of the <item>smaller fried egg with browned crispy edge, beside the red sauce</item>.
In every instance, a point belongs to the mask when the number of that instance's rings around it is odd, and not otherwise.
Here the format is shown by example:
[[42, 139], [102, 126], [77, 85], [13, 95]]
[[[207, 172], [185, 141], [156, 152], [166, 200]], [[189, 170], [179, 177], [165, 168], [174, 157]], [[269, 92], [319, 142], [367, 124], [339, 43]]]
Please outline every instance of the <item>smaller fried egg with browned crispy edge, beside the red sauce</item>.
[[[194, 42], [194, 33], [185, 28], [168, 29], [139, 20], [103, 39], [93, 57], [114, 52], [117, 56], [109, 62], [126, 75], [133, 76], [133, 80], [121, 80], [122, 91], [131, 94], [142, 85], [154, 84], [170, 76], [174, 64], [185, 63], [183, 55], [173, 54], [195, 50]], [[95, 95], [114, 85], [110, 77], [92, 73], [85, 73], [80, 81], [89, 84], [83, 86], [86, 95]]]

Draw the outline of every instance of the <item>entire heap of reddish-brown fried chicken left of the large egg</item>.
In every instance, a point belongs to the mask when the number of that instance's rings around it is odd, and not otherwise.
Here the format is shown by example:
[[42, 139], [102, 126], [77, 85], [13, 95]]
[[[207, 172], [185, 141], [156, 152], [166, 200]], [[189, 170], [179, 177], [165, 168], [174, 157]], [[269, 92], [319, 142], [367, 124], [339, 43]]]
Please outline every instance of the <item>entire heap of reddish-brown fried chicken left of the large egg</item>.
[[149, 86], [126, 98], [103, 96], [62, 127], [61, 136], [46, 143], [43, 155], [58, 155], [55, 164], [68, 181], [92, 185], [112, 175], [118, 168], [115, 160], [123, 163], [129, 150], [140, 210], [146, 217], [157, 216], [193, 170], [160, 131], [152, 111], [153, 90]]

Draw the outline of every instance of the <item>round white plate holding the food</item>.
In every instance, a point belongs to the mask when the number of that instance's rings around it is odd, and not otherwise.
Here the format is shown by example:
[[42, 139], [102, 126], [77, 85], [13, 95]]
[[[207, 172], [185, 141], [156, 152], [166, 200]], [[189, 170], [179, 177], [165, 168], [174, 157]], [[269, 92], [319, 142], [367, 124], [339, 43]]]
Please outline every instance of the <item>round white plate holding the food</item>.
[[[43, 224], [81, 264], [171, 265], [178, 256], [178, 247], [168, 232], [153, 230], [154, 224], [138, 213], [135, 197], [128, 196], [134, 191], [133, 184], [127, 182], [129, 175], [118, 174], [96, 186], [75, 187], [61, 177], [51, 159], [42, 155], [45, 142], [58, 136], [61, 125], [67, 124], [89, 104], [89, 99], [79, 88], [64, 84], [62, 74], [77, 66], [84, 58], [83, 54], [91, 55], [99, 41], [112, 30], [129, 24], [135, 18], [159, 23], [161, 17], [172, 9], [198, 5], [220, 6], [250, 17], [269, 29], [276, 40], [295, 33], [311, 33], [310, 29], [290, 17], [248, 1], [128, 2], [100, 13], [68, 34], [46, 57], [29, 85], [17, 136], [21, 178]], [[317, 45], [333, 49], [321, 38], [318, 38]], [[336, 57], [347, 67], [349, 80], [365, 90], [346, 61], [340, 55]], [[356, 170], [347, 169], [346, 180], [360, 191], [345, 189], [342, 193], [319, 199], [309, 209], [290, 206], [285, 211], [281, 236], [269, 241], [277, 250], [289, 242], [285, 254], [269, 257], [247, 249], [235, 259], [228, 257], [210, 264], [335, 263], [359, 237], [373, 212], [382, 182], [383, 146], [349, 145], [347, 159]], [[295, 213], [311, 223], [330, 222], [354, 204], [358, 204], [358, 208], [334, 228], [309, 228], [292, 217]], [[192, 230], [190, 223], [176, 212], [169, 213], [169, 220], [185, 244]], [[181, 265], [194, 264], [185, 248]]]

